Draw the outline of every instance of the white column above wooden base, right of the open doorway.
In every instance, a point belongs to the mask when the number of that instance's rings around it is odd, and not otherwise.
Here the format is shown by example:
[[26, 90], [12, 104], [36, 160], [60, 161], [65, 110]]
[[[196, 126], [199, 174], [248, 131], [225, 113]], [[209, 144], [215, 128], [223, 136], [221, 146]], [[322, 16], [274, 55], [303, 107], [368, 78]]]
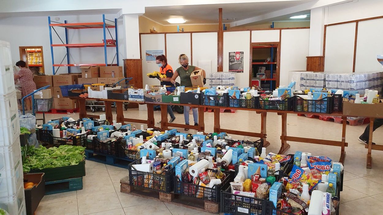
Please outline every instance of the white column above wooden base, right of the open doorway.
[[309, 56], [323, 55], [324, 7], [311, 9]]

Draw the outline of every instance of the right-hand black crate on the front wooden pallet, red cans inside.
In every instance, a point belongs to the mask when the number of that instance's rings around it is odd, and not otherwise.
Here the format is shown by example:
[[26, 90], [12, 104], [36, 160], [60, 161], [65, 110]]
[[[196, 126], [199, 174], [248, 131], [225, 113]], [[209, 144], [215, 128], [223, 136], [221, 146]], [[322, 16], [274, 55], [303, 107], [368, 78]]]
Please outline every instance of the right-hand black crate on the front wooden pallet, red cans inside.
[[208, 200], [211, 202], [219, 202], [221, 190], [226, 190], [230, 186], [230, 182], [234, 180], [232, 171], [222, 171], [226, 174], [221, 184], [216, 184], [212, 188], [204, 187], [193, 183], [180, 181], [177, 177], [174, 178], [174, 193], [186, 195], [197, 199]]

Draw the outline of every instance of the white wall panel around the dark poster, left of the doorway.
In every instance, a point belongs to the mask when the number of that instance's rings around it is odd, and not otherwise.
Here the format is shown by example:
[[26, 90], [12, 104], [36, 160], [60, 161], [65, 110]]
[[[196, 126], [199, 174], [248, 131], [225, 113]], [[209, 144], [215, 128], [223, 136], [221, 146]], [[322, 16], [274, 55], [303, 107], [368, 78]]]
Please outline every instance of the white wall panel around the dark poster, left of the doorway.
[[243, 52], [243, 73], [237, 73], [236, 83], [249, 86], [250, 31], [227, 31], [223, 33], [223, 72], [229, 71], [229, 52]]

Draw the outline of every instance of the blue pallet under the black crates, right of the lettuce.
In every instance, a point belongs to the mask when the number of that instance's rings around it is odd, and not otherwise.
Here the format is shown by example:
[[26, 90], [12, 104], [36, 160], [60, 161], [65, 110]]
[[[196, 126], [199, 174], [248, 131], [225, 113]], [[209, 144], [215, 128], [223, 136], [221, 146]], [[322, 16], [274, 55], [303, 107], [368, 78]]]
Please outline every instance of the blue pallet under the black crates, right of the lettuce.
[[125, 158], [119, 158], [113, 155], [104, 155], [87, 149], [85, 150], [85, 156], [86, 160], [105, 163], [107, 165], [118, 166], [125, 169], [128, 169], [128, 165], [134, 161]]

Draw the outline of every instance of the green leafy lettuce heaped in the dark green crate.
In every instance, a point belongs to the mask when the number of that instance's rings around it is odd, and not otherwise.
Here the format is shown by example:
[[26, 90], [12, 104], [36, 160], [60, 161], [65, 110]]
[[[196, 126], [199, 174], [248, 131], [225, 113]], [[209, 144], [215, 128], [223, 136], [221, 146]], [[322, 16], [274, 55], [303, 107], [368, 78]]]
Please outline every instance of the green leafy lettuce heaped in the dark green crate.
[[26, 151], [23, 171], [77, 165], [85, 158], [85, 147], [61, 145], [59, 148], [29, 147]]

